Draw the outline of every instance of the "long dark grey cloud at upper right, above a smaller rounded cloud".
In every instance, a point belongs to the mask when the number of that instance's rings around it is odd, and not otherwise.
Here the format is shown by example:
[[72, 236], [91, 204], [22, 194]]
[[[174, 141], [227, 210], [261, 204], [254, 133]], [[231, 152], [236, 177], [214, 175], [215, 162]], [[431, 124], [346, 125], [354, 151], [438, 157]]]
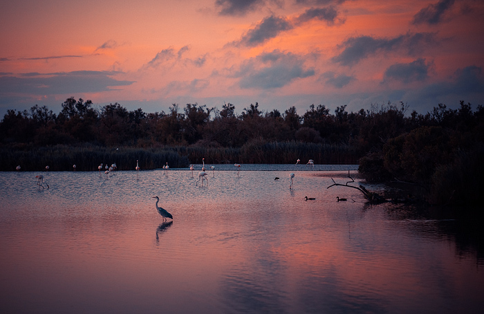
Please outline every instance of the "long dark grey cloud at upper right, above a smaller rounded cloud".
[[333, 57], [332, 61], [344, 66], [354, 66], [362, 59], [377, 53], [402, 51], [407, 55], [414, 55], [425, 46], [436, 44], [435, 37], [434, 33], [407, 33], [394, 38], [351, 37], [339, 45], [343, 50]]

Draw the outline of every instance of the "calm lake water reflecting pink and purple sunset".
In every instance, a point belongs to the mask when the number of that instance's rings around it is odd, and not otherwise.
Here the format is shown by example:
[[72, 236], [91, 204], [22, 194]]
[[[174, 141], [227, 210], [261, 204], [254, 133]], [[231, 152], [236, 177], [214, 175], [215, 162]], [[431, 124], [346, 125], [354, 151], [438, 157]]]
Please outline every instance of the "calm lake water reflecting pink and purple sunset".
[[482, 313], [484, 262], [458, 220], [326, 188], [353, 165], [242, 168], [203, 187], [200, 165], [1, 173], [0, 312]]

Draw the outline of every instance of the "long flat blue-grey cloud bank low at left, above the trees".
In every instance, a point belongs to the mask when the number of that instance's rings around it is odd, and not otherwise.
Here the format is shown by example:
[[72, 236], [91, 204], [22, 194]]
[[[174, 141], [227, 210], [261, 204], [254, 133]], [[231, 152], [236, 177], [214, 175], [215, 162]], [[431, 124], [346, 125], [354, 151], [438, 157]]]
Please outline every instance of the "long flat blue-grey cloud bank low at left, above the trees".
[[74, 71], [67, 73], [26, 73], [0, 77], [0, 95], [49, 95], [111, 91], [133, 81], [115, 80], [114, 71]]

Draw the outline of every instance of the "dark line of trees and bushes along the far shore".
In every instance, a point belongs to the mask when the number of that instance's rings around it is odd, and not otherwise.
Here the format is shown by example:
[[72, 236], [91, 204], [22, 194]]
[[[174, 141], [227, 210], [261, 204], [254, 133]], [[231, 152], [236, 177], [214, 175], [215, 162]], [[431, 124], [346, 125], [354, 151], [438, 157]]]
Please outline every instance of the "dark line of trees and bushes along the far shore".
[[[311, 104], [299, 115], [295, 107], [261, 111], [256, 102], [241, 114], [230, 103], [220, 110], [172, 104], [166, 113], [145, 113], [118, 103], [95, 109], [91, 100], [68, 98], [58, 114], [38, 105], [7, 111], [0, 122], [0, 167], [11, 170], [12, 160], [16, 163], [23, 156], [12, 151], [46, 154], [57, 147], [52, 155], [104, 151], [104, 158], [120, 159], [109, 148], [129, 147], [123, 158], [132, 164], [140, 155], [151, 156], [147, 167], [161, 167], [166, 158], [180, 167], [201, 163], [201, 158], [210, 163], [294, 163], [301, 158], [322, 164], [359, 163], [368, 181], [420, 184], [440, 203], [445, 197], [465, 202], [474, 195], [469, 191], [480, 191], [476, 175], [483, 174], [483, 106], [473, 111], [470, 103], [461, 101], [458, 109], [438, 104], [423, 114], [407, 111], [402, 102], [372, 104], [356, 112], [343, 105], [334, 113], [324, 104]], [[95, 164], [86, 165], [86, 170], [89, 167]]]

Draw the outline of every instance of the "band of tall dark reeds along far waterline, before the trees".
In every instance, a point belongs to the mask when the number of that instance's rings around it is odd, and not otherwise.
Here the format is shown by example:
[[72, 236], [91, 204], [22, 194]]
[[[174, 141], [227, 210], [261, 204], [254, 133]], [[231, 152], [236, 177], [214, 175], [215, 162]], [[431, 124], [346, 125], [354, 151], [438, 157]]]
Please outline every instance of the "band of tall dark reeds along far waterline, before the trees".
[[240, 148], [234, 147], [98, 147], [86, 145], [72, 147], [0, 148], [0, 171], [95, 171], [101, 163], [115, 163], [119, 170], [133, 170], [136, 160], [141, 169], [161, 168], [168, 163], [172, 168], [188, 167], [190, 163], [269, 163], [291, 164], [313, 159], [317, 164], [356, 164], [357, 152], [349, 145], [328, 145], [303, 142], [266, 142], [253, 140]]

